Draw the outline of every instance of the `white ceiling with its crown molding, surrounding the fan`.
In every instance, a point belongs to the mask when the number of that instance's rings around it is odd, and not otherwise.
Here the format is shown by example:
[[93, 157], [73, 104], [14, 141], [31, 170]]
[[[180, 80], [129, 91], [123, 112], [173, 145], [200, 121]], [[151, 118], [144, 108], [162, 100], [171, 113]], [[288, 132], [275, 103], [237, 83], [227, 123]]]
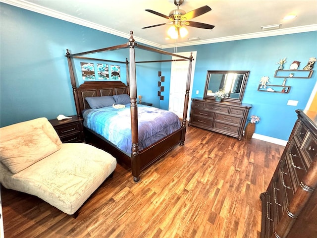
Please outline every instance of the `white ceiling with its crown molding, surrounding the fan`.
[[[141, 29], [168, 22], [145, 9], [168, 15], [176, 8], [173, 0], [0, 1], [126, 38], [132, 30], [136, 41], [159, 48], [175, 45], [175, 40], [165, 40], [168, 25]], [[212, 30], [187, 27], [189, 34], [178, 39], [178, 46], [317, 30], [317, 0], [184, 0], [180, 8], [189, 12], [204, 5], [212, 10], [192, 21], [215, 27]], [[290, 13], [297, 17], [283, 20]], [[282, 24], [278, 30], [261, 30], [261, 26], [278, 23]], [[199, 37], [199, 40], [188, 39], [194, 37]]]

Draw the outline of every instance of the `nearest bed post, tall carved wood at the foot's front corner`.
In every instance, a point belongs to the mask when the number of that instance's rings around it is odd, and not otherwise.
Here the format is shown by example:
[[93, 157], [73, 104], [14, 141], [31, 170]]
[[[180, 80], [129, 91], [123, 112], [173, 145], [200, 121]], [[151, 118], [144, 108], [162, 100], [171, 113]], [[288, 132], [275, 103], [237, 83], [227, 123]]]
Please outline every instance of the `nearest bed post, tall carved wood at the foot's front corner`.
[[129, 38], [129, 54], [130, 54], [130, 99], [131, 99], [131, 136], [132, 136], [132, 175], [133, 180], [138, 182], [140, 180], [141, 164], [139, 155], [139, 134], [138, 134], [138, 107], [137, 107], [137, 81], [135, 70], [135, 43], [133, 38], [133, 31], [130, 31]]

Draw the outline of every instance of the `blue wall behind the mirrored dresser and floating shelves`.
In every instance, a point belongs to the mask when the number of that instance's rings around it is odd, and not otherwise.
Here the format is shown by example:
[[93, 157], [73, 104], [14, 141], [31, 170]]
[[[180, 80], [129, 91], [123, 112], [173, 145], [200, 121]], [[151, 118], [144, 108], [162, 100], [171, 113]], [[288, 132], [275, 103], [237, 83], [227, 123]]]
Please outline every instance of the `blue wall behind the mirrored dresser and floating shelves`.
[[[289, 69], [294, 60], [301, 62], [299, 69], [302, 69], [310, 57], [317, 57], [317, 31], [178, 47], [178, 52], [188, 51], [197, 51], [192, 97], [203, 97], [207, 70], [250, 70], [242, 102], [253, 105], [250, 116], [261, 118], [255, 132], [288, 140], [297, 119], [294, 111], [305, 109], [317, 73], [314, 71], [309, 79], [288, 78], [286, 85], [291, 86], [288, 94], [257, 91], [259, 81], [262, 76], [268, 76], [270, 84], [281, 85], [283, 78], [274, 78], [274, 73], [279, 66], [276, 62], [284, 57], [284, 69]], [[287, 106], [288, 100], [296, 100], [298, 105]]]

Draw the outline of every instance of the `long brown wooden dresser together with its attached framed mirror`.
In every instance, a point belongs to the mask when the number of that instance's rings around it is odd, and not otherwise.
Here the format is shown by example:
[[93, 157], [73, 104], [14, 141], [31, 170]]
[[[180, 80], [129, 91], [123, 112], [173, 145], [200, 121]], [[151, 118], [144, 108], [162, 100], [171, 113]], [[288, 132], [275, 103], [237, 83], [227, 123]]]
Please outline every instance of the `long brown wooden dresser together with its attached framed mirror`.
[[[203, 98], [193, 98], [189, 125], [242, 139], [251, 104], [242, 99], [250, 71], [208, 70]], [[228, 97], [216, 102], [214, 93], [224, 90]]]

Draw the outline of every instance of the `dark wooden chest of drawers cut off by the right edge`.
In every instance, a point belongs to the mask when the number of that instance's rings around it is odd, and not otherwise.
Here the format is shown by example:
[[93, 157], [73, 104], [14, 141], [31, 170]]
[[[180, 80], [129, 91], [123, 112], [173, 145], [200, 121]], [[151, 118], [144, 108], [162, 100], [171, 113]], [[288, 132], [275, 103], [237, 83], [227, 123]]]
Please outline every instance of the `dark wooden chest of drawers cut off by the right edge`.
[[298, 119], [262, 200], [261, 238], [317, 238], [317, 112]]

